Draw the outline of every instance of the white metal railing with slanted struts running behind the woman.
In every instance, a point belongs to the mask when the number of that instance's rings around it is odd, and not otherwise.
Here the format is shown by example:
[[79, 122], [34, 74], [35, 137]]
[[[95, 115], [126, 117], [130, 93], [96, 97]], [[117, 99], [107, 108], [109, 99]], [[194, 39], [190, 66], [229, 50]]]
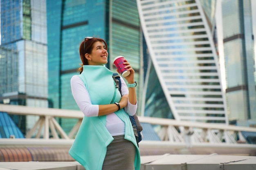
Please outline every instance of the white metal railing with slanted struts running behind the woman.
[[[39, 116], [38, 121], [35, 122], [34, 126], [27, 132], [26, 138], [31, 138], [32, 136], [40, 138], [43, 133], [43, 138], [49, 139], [49, 131], [51, 131], [53, 139], [59, 139], [60, 137], [61, 139], [74, 139], [83, 119], [83, 113], [81, 111], [66, 109], [0, 104], [0, 111], [16, 115]], [[67, 135], [55, 118], [77, 118], [78, 122], [69, 132], [69, 135]], [[256, 128], [225, 124], [186, 122], [151, 117], [139, 117], [139, 120], [141, 123], [158, 125], [159, 130], [156, 133], [161, 139], [160, 142], [185, 144], [187, 147], [192, 147], [192, 145], [195, 144], [236, 144], [248, 146], [242, 132], [256, 132]], [[237, 140], [238, 138], [239, 141]], [[250, 145], [256, 147], [254, 144]]]

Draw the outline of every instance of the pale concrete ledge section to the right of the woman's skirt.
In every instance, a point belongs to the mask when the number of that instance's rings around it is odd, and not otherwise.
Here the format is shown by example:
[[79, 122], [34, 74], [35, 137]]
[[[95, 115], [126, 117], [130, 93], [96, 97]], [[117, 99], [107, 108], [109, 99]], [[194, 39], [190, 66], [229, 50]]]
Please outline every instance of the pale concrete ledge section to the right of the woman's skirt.
[[158, 155], [141, 157], [141, 170], [255, 170], [256, 157], [238, 155]]

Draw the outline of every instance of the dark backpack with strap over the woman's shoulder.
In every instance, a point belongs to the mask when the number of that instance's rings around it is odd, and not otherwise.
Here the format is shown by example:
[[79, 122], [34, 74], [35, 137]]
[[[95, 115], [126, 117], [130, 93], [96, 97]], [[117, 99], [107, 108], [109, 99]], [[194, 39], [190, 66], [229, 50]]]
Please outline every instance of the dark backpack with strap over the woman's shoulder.
[[[121, 80], [120, 80], [119, 74], [113, 73], [113, 79], [116, 82], [116, 88], [118, 88], [120, 94], [122, 94], [121, 93]], [[139, 146], [139, 142], [142, 140], [142, 136], [140, 133], [142, 131], [142, 126], [138, 120], [136, 113], [134, 116], [129, 116], [129, 117], [130, 117], [130, 121], [132, 123], [132, 127], [133, 127], [133, 131], [134, 131], [135, 138], [137, 141], [137, 145]]]

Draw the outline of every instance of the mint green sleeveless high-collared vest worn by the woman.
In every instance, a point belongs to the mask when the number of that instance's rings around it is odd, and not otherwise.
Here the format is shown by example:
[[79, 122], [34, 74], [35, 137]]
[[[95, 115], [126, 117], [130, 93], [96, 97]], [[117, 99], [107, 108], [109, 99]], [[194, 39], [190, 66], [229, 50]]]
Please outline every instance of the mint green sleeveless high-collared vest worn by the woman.
[[[89, 92], [93, 105], [107, 105], [119, 102], [121, 94], [115, 88], [112, 78], [113, 72], [105, 66], [83, 65], [83, 72], [79, 75]], [[125, 139], [136, 146], [135, 170], [140, 169], [140, 153], [128, 114], [121, 109], [115, 114], [125, 123]], [[70, 155], [86, 170], [101, 170], [106, 156], [107, 146], [113, 137], [106, 129], [106, 115], [84, 117], [70, 148]]]

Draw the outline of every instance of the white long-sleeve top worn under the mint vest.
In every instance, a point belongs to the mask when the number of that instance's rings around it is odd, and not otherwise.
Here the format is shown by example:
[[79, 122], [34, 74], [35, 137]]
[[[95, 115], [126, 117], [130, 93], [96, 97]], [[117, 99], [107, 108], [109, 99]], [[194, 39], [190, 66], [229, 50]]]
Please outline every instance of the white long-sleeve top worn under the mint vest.
[[[129, 94], [129, 90], [124, 79], [120, 77], [120, 80], [122, 96]], [[92, 105], [90, 95], [81, 78], [79, 78], [78, 75], [74, 75], [72, 76], [70, 83], [74, 100], [76, 101], [76, 104], [81, 109], [83, 114], [87, 117], [98, 116], [99, 105]], [[137, 102], [136, 105], [132, 105], [128, 99], [128, 104], [124, 109], [128, 115], [135, 115], [137, 110]], [[112, 136], [124, 135], [124, 126], [124, 122], [115, 113], [110, 113], [107, 115], [106, 128]]]

